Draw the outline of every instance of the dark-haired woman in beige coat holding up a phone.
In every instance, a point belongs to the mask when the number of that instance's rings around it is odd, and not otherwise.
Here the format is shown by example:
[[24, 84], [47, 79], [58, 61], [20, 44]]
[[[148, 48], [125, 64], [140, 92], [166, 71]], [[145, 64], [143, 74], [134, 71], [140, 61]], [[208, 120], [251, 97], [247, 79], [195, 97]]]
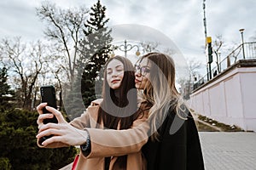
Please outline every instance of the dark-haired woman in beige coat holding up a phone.
[[[148, 128], [148, 124], [142, 123], [148, 117], [148, 105], [143, 102], [138, 108], [131, 61], [120, 56], [109, 59], [103, 84], [103, 98], [93, 101], [82, 116], [70, 123], [64, 120], [60, 111], [46, 104], [38, 105], [37, 138], [54, 135], [38, 145], [45, 148], [81, 145], [76, 169], [145, 169], [141, 148], [148, 135], [141, 128]], [[43, 124], [45, 118], [53, 116], [42, 114], [44, 106], [56, 116], [57, 124]], [[131, 131], [134, 127], [137, 130]]]

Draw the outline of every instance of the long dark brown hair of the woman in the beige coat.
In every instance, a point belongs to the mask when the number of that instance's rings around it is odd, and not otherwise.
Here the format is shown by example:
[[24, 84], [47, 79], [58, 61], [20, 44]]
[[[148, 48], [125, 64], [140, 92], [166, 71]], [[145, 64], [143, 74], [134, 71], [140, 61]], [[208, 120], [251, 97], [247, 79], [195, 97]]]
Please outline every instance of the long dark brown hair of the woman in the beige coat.
[[[113, 90], [107, 82], [107, 66], [113, 59], [118, 59], [124, 65], [124, 77], [120, 87]], [[127, 129], [137, 119], [137, 89], [135, 88], [134, 68], [129, 59], [119, 55], [108, 59], [105, 65], [104, 80], [102, 88], [102, 103], [98, 111], [97, 126], [103, 124], [105, 128]], [[129, 99], [127, 94], [129, 92]], [[125, 108], [125, 109], [124, 109]], [[111, 112], [114, 112], [112, 114]], [[109, 166], [110, 158], [105, 158], [105, 169]], [[127, 156], [119, 156], [119, 168], [125, 169]]]

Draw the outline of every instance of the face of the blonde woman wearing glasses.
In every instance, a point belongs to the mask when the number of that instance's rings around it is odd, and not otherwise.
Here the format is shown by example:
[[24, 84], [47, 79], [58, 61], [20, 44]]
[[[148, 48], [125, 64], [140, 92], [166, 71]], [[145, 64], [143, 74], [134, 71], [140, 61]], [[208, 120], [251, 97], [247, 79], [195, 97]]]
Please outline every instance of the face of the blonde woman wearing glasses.
[[137, 89], [146, 88], [149, 79], [150, 63], [148, 58], [144, 58], [135, 66], [135, 87]]

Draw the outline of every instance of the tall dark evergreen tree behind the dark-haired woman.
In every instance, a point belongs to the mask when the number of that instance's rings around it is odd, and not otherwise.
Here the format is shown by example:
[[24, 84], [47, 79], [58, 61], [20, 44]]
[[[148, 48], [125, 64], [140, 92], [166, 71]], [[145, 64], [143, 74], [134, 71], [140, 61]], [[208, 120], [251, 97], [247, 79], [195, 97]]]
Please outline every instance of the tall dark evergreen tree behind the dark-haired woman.
[[[85, 61], [82, 70], [81, 93], [84, 105], [90, 105], [97, 94], [101, 94], [102, 90], [102, 74], [100, 73], [102, 66], [105, 65], [112, 51], [110, 42], [113, 38], [110, 36], [111, 29], [108, 29], [106, 18], [106, 7], [102, 6], [100, 0], [90, 8], [90, 19], [84, 25], [85, 38], [81, 41], [83, 60]], [[89, 48], [88, 48], [89, 47]], [[84, 55], [85, 54], [85, 55]], [[97, 83], [96, 87], [96, 81]]]

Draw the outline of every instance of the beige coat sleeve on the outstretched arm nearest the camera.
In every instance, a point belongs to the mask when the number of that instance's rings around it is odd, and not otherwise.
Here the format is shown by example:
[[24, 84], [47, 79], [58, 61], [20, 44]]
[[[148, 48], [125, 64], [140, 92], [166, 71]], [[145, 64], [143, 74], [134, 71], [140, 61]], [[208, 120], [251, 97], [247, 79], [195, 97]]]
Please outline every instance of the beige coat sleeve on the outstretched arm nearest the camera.
[[91, 151], [87, 158], [123, 156], [142, 149], [148, 141], [146, 118], [137, 119], [133, 127], [125, 130], [86, 128], [90, 133]]

